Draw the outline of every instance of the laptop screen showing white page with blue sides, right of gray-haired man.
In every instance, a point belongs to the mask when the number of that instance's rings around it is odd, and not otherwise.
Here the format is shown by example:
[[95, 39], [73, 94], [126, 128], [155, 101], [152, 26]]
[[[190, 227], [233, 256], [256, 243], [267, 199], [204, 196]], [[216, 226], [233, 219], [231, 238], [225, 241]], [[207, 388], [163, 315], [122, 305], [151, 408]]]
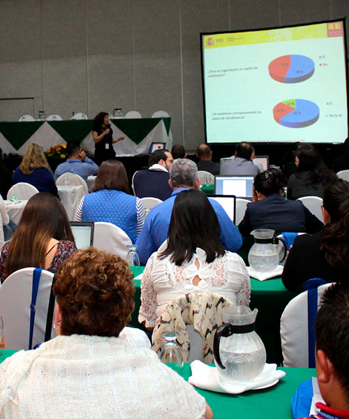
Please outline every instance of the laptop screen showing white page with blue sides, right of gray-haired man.
[[235, 195], [237, 198], [253, 198], [253, 176], [215, 176], [216, 195]]

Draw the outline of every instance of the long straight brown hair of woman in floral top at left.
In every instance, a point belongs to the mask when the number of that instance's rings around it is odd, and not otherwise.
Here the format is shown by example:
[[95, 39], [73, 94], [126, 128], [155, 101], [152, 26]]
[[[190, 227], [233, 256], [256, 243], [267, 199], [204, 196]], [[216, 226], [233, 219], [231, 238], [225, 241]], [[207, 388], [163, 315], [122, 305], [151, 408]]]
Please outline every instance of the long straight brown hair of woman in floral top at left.
[[24, 207], [13, 233], [2, 280], [22, 267], [43, 267], [51, 239], [75, 242], [66, 210], [59, 199], [51, 193], [36, 193]]

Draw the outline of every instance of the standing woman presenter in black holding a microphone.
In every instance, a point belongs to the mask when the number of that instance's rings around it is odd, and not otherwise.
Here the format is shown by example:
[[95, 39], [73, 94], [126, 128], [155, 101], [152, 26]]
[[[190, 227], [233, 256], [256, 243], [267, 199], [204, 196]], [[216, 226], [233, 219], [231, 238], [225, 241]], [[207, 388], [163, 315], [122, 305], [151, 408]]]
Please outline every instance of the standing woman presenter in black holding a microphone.
[[105, 160], [115, 159], [113, 144], [124, 140], [124, 136], [112, 138], [112, 128], [109, 124], [109, 115], [107, 112], [99, 112], [94, 118], [94, 128], [92, 128], [92, 137], [95, 144], [95, 162], [98, 166]]

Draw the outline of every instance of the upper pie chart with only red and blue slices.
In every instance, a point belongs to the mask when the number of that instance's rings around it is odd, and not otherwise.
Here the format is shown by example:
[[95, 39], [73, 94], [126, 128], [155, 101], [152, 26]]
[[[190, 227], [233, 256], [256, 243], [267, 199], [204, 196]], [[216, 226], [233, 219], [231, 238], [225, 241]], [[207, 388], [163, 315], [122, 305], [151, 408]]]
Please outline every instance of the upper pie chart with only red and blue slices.
[[281, 83], [299, 83], [311, 78], [314, 61], [305, 55], [283, 55], [269, 64], [269, 75]]

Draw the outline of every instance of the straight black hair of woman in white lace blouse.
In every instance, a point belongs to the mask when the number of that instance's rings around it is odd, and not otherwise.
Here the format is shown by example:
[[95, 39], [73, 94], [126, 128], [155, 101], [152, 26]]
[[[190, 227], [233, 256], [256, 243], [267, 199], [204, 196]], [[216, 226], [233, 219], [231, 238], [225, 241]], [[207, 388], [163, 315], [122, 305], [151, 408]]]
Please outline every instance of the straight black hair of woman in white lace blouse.
[[225, 253], [220, 235], [221, 226], [205, 193], [198, 189], [182, 191], [174, 200], [168, 248], [161, 253], [161, 258], [170, 256], [172, 262], [181, 266], [189, 262], [200, 247], [206, 252], [207, 262], [211, 263]]

